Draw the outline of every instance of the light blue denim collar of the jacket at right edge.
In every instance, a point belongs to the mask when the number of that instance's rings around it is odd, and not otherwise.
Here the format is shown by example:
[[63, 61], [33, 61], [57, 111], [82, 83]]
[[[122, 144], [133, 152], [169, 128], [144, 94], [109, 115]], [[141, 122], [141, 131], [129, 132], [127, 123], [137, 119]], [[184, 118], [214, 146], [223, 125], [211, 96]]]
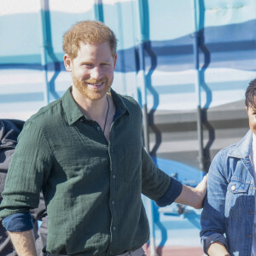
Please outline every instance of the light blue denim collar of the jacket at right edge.
[[253, 142], [253, 132], [251, 130], [247, 131], [245, 137], [241, 139], [239, 143], [236, 143], [235, 148], [233, 148], [228, 154], [230, 157], [236, 158], [247, 158], [250, 155], [251, 147]]

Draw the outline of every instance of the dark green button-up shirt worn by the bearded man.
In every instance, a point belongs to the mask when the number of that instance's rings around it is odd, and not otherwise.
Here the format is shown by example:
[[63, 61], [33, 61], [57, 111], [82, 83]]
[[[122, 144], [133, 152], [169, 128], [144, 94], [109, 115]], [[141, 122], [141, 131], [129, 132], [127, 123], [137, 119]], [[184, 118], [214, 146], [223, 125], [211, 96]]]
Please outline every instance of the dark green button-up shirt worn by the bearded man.
[[28, 119], [20, 134], [0, 217], [38, 207], [43, 189], [48, 253], [102, 256], [143, 246], [149, 230], [141, 193], [157, 200], [170, 186], [143, 148], [141, 108], [111, 94], [109, 143], [70, 90]]

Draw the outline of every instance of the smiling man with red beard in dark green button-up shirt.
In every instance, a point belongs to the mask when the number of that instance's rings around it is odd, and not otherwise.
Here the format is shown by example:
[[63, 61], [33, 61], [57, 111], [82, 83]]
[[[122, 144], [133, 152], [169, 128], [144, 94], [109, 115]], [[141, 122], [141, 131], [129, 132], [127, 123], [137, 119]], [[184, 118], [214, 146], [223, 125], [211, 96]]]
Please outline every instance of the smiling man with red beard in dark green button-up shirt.
[[35, 256], [29, 209], [40, 189], [49, 216], [44, 253], [144, 255], [148, 219], [141, 194], [160, 207], [200, 208], [195, 189], [154, 166], [143, 148], [142, 111], [111, 89], [116, 38], [99, 21], [82, 21], [63, 38], [73, 85], [26, 121], [3, 191], [0, 217], [20, 256]]

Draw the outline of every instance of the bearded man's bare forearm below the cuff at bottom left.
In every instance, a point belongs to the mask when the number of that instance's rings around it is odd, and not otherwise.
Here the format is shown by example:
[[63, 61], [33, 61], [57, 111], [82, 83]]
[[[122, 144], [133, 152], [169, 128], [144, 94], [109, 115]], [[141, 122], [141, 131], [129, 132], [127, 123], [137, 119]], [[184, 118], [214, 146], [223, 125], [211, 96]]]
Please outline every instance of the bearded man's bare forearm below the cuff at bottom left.
[[32, 230], [8, 232], [8, 235], [19, 256], [37, 256]]

